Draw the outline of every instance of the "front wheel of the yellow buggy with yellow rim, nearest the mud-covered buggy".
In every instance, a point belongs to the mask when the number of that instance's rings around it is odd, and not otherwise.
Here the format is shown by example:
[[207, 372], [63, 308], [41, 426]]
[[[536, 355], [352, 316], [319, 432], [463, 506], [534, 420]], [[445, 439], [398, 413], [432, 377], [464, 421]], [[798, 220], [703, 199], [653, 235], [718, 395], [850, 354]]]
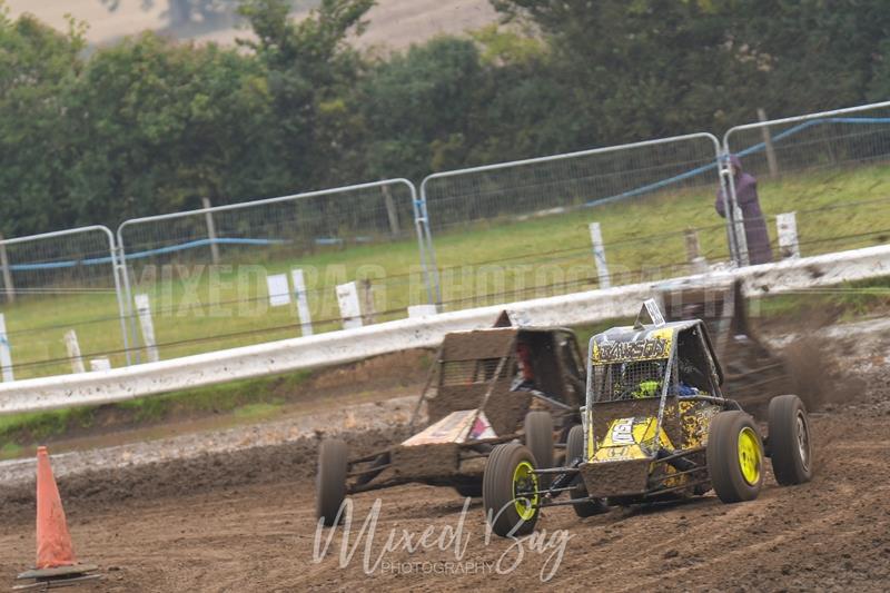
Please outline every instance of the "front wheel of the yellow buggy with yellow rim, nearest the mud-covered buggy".
[[488, 457], [482, 480], [482, 502], [492, 531], [502, 537], [535, 528], [540, 490], [532, 452], [518, 443], [498, 445]]

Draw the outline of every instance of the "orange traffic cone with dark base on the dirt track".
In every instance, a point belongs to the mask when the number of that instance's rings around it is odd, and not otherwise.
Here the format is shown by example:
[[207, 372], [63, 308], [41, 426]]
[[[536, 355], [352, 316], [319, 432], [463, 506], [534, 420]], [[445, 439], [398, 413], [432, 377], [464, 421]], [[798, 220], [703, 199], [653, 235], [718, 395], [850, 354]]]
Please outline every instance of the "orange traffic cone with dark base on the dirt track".
[[81, 581], [99, 579], [89, 574], [98, 566], [78, 564], [71, 535], [65, 521], [65, 510], [59, 487], [52, 476], [47, 447], [37, 448], [37, 564], [18, 579], [33, 579], [34, 583], [13, 590], [49, 589]]

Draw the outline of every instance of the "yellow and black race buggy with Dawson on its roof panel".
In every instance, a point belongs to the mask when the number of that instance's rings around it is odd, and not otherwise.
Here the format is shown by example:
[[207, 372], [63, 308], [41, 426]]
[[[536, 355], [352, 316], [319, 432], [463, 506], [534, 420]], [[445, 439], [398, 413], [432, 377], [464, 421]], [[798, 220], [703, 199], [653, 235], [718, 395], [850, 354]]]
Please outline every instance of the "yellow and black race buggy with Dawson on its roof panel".
[[[644, 313], [651, 324], [642, 323]], [[762, 436], [721, 392], [723, 372], [703, 322], [666, 323], [654, 300], [646, 302], [634, 326], [591, 339], [587, 362], [582, 425], [568, 434], [563, 467], [538, 467], [516, 442], [492, 452], [483, 502], [498, 535], [531, 532], [546, 506], [571, 505], [590, 516], [610, 505], [710, 490], [725, 503], [750, 501], [763, 485], [765, 457], [780, 484], [810, 480], [810, 427], [801, 399], [772, 398]]]

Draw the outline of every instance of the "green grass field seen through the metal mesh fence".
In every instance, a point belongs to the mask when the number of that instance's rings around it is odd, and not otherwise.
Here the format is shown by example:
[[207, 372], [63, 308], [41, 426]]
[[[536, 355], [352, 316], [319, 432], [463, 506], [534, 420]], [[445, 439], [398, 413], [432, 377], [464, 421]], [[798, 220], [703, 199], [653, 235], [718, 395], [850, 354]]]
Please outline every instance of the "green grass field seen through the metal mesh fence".
[[[761, 179], [768, 216], [797, 210], [803, 255], [884, 244], [890, 237], [890, 166], [822, 170], [780, 180]], [[596, 287], [587, 224], [600, 221], [613, 284], [683, 274], [683, 231], [695, 228], [702, 254], [725, 260], [725, 230], [713, 211], [712, 189], [662, 192], [567, 214], [504, 219], [435, 235], [445, 309], [521, 300]], [[774, 223], [770, 221], [775, 236]], [[225, 256], [224, 251], [224, 256]], [[220, 268], [182, 267], [137, 278], [150, 295], [162, 358], [299, 335], [293, 305], [267, 306], [266, 274], [294, 267], [307, 274], [316, 332], [339, 327], [334, 286], [368, 278], [376, 320], [400, 318], [426, 302], [415, 239], [312, 255], [239, 251]], [[224, 257], [225, 260], [225, 257]], [[233, 261], [235, 261], [233, 259]], [[166, 274], [166, 275], [165, 275]], [[16, 377], [70, 370], [62, 336], [77, 329], [85, 358], [108, 353], [121, 366], [113, 294], [23, 296], [6, 315]], [[145, 358], [142, 358], [145, 359]]]

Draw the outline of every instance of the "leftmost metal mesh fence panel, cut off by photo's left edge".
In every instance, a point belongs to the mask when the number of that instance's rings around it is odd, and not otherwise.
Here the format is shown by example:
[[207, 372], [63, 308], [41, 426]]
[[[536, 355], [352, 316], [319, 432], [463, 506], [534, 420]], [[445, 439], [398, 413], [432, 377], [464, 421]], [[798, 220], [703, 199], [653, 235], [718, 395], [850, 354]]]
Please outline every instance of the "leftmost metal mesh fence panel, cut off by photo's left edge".
[[3, 380], [129, 363], [115, 251], [102, 226], [0, 240]]

